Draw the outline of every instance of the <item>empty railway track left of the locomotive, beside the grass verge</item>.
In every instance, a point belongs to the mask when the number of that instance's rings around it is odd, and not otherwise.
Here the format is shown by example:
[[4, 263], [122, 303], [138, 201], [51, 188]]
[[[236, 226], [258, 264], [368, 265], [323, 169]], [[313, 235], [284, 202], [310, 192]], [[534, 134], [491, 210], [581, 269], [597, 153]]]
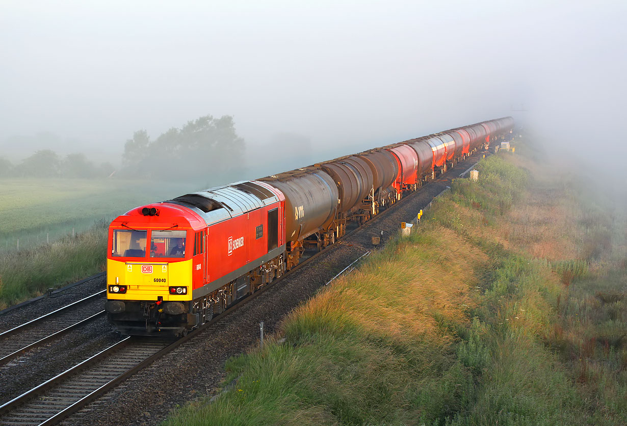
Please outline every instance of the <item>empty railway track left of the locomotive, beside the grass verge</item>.
[[[0, 333], [0, 366], [105, 314], [105, 290]], [[54, 330], [51, 332], [51, 330]]]

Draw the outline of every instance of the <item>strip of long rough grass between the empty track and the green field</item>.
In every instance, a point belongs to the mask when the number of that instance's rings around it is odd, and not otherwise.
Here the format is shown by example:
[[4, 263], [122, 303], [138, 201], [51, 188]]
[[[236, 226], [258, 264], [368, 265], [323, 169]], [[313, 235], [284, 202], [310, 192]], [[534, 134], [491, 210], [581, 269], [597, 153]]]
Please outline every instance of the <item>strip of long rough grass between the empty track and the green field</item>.
[[34, 249], [0, 256], [0, 309], [105, 268], [108, 224]]

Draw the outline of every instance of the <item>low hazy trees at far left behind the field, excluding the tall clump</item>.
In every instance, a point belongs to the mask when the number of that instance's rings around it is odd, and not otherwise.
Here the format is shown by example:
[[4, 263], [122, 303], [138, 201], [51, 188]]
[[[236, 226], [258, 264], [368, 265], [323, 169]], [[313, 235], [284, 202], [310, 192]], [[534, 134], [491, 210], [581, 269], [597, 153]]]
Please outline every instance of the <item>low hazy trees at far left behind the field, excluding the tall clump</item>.
[[38, 150], [18, 164], [0, 158], [0, 177], [68, 177], [92, 179], [108, 177], [115, 168], [110, 163], [95, 164], [83, 153], [60, 157], [49, 149]]

